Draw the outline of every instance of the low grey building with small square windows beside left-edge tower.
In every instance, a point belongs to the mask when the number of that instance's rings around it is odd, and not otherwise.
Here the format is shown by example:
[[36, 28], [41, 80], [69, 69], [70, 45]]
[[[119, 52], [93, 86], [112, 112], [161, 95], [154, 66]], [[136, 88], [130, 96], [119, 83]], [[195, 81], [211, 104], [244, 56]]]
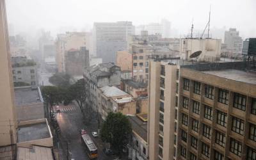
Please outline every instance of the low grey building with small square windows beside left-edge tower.
[[26, 57], [12, 57], [12, 74], [15, 87], [38, 86], [37, 65]]

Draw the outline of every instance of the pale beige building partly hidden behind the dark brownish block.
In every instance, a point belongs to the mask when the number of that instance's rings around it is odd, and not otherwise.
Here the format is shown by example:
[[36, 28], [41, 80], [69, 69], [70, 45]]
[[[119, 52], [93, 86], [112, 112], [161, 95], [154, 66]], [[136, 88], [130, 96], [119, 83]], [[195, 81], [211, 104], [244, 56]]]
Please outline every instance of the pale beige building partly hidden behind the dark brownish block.
[[55, 45], [58, 72], [66, 72], [65, 53], [70, 49], [86, 47], [86, 34], [84, 32], [67, 32], [57, 35]]

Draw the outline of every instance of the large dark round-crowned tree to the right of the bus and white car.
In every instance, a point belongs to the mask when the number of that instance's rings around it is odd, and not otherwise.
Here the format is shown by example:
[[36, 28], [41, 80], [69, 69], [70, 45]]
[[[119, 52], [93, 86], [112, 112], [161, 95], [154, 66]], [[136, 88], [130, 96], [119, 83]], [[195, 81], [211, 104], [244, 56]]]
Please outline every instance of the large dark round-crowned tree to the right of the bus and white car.
[[131, 132], [131, 124], [127, 116], [110, 112], [102, 124], [100, 136], [102, 141], [109, 143], [111, 148], [121, 156], [122, 150], [129, 142]]

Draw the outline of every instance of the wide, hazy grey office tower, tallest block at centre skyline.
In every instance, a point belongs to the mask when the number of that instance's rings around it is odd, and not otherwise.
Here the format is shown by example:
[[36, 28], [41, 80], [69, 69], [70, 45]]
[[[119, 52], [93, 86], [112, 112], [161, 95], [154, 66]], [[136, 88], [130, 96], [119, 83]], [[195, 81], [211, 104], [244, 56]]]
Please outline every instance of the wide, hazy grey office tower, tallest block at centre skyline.
[[115, 62], [116, 52], [127, 48], [129, 35], [134, 35], [132, 22], [95, 22], [93, 26], [94, 51], [105, 62]]

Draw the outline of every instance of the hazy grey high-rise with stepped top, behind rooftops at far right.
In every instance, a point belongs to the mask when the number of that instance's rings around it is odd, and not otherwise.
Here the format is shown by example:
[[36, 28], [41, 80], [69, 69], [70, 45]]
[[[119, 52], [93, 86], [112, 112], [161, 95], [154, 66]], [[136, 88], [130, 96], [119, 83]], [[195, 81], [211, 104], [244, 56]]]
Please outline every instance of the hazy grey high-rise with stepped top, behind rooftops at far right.
[[225, 31], [224, 44], [227, 45], [228, 57], [237, 57], [242, 54], [243, 39], [239, 36], [236, 28], [230, 28]]

